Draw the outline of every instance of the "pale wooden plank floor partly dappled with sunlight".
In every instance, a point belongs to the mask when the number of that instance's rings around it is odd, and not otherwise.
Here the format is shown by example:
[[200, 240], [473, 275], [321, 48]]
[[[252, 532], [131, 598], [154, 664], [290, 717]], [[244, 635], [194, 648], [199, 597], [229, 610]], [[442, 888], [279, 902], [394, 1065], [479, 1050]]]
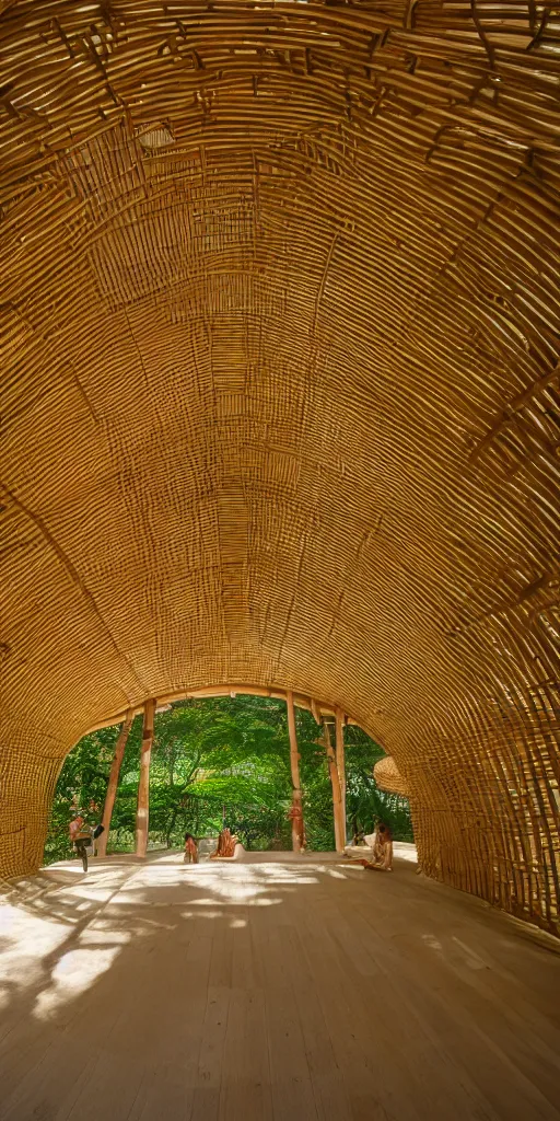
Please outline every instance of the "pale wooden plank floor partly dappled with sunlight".
[[560, 1119], [560, 956], [398, 861], [56, 865], [1, 909], [2, 1121]]

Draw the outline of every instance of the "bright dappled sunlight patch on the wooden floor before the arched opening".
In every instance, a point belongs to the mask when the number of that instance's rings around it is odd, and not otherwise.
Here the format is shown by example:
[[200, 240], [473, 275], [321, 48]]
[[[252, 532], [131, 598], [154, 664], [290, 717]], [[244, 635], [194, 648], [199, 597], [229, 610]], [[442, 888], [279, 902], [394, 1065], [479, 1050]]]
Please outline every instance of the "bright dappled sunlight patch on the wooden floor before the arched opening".
[[[398, 855], [416, 858], [410, 849]], [[180, 920], [230, 916], [228, 927], [242, 930], [249, 918], [236, 908], [278, 907], [299, 888], [356, 871], [334, 853], [300, 861], [291, 853], [286, 860], [251, 855], [246, 863], [198, 865], [185, 864], [180, 853], [146, 864], [121, 856], [93, 862], [86, 876], [72, 862], [22, 880], [0, 907], [0, 1008], [27, 993], [30, 1015], [46, 1022], [81, 1000], [131, 942], [172, 930], [171, 914]]]

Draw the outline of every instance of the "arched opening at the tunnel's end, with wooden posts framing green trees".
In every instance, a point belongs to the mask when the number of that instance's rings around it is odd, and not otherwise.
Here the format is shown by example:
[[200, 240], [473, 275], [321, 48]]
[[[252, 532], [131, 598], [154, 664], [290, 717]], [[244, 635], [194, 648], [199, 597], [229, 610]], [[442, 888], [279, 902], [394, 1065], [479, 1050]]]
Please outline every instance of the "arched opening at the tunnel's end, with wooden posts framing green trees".
[[[248, 689], [208, 688], [156, 703], [147, 852], [179, 851], [186, 831], [206, 841], [225, 824], [248, 851], [299, 850], [291, 835], [292, 736], [305, 851], [344, 852], [356, 836], [372, 835], [377, 821], [395, 841], [412, 841], [408, 799], [394, 793], [394, 775], [392, 793], [386, 776], [377, 787], [374, 767], [386, 757], [365, 732], [315, 700]], [[78, 813], [84, 828], [104, 825], [97, 856], [137, 851], [143, 715], [131, 711], [121, 724], [95, 730], [66, 757], [50, 813], [47, 864], [72, 856], [68, 823]]]

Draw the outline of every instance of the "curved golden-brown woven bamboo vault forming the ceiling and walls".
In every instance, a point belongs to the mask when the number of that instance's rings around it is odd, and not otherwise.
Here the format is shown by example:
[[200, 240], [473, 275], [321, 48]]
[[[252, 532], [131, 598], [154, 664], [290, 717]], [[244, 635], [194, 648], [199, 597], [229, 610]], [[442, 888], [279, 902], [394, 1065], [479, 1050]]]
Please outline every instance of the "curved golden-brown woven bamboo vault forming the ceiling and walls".
[[0, 10], [3, 872], [86, 729], [249, 682], [554, 928], [556, 9]]

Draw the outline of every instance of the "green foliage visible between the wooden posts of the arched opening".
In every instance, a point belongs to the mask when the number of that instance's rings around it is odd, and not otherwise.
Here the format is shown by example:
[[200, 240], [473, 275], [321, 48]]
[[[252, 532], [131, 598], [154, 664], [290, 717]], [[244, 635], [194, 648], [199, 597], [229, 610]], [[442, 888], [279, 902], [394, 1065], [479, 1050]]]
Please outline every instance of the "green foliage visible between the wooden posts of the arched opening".
[[[308, 847], [334, 847], [333, 804], [325, 748], [311, 714], [297, 710], [304, 816]], [[83, 740], [67, 756], [56, 787], [45, 862], [72, 855], [68, 822], [76, 808], [101, 817], [118, 726]], [[142, 734], [134, 720], [121, 768], [109, 851], [134, 844]], [[346, 729], [348, 833], [386, 821], [395, 837], [411, 840], [405, 799], [380, 791], [372, 768], [383, 754], [364, 732]], [[90, 805], [99, 808], [90, 809]], [[178, 849], [188, 830], [215, 835], [225, 822], [248, 849], [291, 847], [289, 738], [286, 704], [269, 697], [196, 698], [156, 716], [150, 769], [151, 846]]]

